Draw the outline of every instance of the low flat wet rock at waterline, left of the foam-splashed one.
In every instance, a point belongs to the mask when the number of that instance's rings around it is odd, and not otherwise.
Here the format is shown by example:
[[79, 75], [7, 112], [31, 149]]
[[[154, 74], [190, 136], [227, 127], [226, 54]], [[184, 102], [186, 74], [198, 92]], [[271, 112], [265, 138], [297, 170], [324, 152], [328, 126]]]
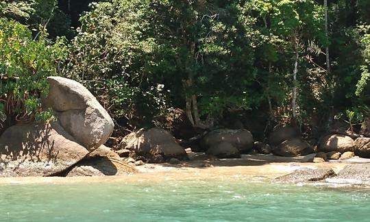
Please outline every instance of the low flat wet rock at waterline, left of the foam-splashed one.
[[282, 177], [277, 177], [275, 182], [289, 182], [289, 183], [299, 183], [299, 182], [315, 182], [320, 180], [325, 180], [329, 177], [336, 176], [336, 173], [330, 168], [320, 168], [320, 169], [298, 169], [293, 173], [288, 175], [283, 175]]

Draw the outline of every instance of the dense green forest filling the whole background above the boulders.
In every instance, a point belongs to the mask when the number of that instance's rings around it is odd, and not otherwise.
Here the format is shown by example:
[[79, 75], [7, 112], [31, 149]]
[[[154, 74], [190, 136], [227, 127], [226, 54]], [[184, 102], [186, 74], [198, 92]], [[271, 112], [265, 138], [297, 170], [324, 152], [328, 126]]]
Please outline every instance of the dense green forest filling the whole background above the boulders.
[[370, 101], [368, 0], [328, 1], [328, 32], [323, 1], [91, 2], [0, 2], [2, 121], [38, 113], [47, 75], [82, 82], [132, 127], [171, 108], [199, 127], [252, 112], [325, 125]]

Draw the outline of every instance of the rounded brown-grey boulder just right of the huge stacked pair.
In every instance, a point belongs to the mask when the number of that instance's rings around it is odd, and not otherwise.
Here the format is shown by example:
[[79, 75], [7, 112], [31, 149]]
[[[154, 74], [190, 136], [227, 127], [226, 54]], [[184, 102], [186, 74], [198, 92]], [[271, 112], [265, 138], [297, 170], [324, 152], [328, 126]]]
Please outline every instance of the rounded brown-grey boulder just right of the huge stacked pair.
[[120, 147], [135, 151], [138, 156], [145, 156], [150, 162], [162, 162], [171, 158], [188, 160], [184, 147], [178, 145], [167, 130], [158, 127], [128, 134], [121, 141]]

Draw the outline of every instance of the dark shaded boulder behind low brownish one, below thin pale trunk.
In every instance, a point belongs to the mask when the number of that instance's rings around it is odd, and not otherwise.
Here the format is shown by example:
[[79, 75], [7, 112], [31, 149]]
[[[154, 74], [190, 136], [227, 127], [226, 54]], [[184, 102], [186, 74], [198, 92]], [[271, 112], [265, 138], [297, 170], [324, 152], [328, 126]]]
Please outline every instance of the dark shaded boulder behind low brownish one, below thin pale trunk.
[[269, 143], [272, 146], [277, 146], [285, 140], [299, 137], [299, 131], [295, 127], [291, 125], [277, 125], [269, 136]]

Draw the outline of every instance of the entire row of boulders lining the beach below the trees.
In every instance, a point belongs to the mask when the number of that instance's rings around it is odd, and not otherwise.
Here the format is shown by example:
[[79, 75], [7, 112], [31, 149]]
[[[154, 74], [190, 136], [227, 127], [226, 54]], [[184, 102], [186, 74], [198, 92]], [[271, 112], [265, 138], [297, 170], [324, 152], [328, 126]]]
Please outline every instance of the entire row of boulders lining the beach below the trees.
[[[0, 176], [120, 175], [136, 172], [135, 166], [145, 162], [178, 164], [192, 153], [191, 146], [183, 147], [159, 127], [132, 132], [112, 150], [103, 144], [114, 123], [97, 99], [71, 79], [49, 77], [48, 81], [42, 108], [53, 110], [54, 119], [19, 123], [1, 134]], [[286, 157], [317, 153], [313, 162], [370, 158], [370, 138], [336, 132], [317, 143], [304, 140], [291, 125], [275, 127], [267, 143], [254, 141], [245, 129], [212, 130], [197, 138], [197, 147], [207, 158], [240, 158], [250, 152]]]

